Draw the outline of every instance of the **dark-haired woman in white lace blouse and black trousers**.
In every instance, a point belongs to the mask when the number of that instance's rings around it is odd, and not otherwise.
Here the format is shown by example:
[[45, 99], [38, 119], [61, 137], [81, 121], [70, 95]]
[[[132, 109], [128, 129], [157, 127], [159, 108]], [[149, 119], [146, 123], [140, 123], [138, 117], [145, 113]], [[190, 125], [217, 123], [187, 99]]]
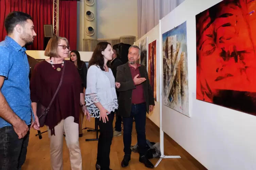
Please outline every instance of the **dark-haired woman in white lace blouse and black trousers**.
[[100, 127], [96, 170], [110, 170], [109, 153], [113, 138], [114, 111], [118, 108], [116, 87], [120, 87], [120, 83], [115, 83], [113, 73], [107, 66], [113, 53], [108, 42], [98, 43], [87, 71], [86, 106]]

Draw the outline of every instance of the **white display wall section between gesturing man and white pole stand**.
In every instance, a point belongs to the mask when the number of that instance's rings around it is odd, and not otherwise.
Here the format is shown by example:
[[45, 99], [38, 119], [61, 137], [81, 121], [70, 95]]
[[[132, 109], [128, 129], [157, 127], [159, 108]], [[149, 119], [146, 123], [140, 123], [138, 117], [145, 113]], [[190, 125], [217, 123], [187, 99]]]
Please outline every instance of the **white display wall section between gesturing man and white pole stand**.
[[[145, 34], [144, 36], [142, 36], [140, 39], [138, 39], [135, 43], [134, 43], [134, 45], [137, 45], [137, 46], [139, 46], [139, 42], [141, 41], [141, 40], [143, 40], [144, 38], [146, 38], [146, 37], [148, 37], [148, 44], [149, 43], [151, 43], [151, 42], [153, 42], [153, 41], [157, 41], [156, 42], [156, 44], [157, 44], [157, 50], [156, 50], [156, 53], [157, 53], [157, 56], [156, 56], [156, 58], [157, 58], [157, 62], [156, 62], [156, 64], [157, 64], [157, 66], [156, 66], [156, 68], [157, 68], [157, 87], [159, 87], [159, 24], [158, 25], [156, 25], [153, 29], [151, 29], [147, 34]], [[148, 51], [149, 51], [149, 49], [148, 49]], [[147, 62], [148, 63], [148, 62]], [[148, 118], [152, 121], [152, 122], [154, 122], [158, 127], [160, 127], [160, 115], [159, 115], [159, 111], [160, 111], [160, 103], [159, 103], [159, 92], [160, 92], [160, 90], [159, 90], [159, 88], [157, 88], [157, 98], [158, 98], [158, 102], [156, 102], [155, 101], [155, 107], [154, 107], [154, 110], [151, 112], [151, 113], [149, 113], [149, 114], [147, 114], [148, 115]]]

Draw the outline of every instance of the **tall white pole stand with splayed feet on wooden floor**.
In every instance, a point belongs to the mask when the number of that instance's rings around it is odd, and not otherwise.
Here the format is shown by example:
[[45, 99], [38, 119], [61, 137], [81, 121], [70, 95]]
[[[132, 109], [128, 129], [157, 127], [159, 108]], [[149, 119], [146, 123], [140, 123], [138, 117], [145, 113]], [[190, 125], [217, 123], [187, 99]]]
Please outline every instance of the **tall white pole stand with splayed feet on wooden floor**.
[[164, 158], [181, 158], [181, 156], [166, 156], [164, 154], [164, 131], [162, 130], [162, 75], [163, 75], [163, 66], [162, 66], [162, 57], [163, 57], [163, 47], [162, 47], [162, 31], [161, 31], [161, 20], [159, 20], [159, 57], [158, 57], [158, 66], [160, 68], [159, 70], [159, 75], [160, 75], [160, 152], [161, 152], [161, 156], [160, 159], [157, 161], [155, 167], [157, 167], [157, 165], [161, 162], [162, 159]]

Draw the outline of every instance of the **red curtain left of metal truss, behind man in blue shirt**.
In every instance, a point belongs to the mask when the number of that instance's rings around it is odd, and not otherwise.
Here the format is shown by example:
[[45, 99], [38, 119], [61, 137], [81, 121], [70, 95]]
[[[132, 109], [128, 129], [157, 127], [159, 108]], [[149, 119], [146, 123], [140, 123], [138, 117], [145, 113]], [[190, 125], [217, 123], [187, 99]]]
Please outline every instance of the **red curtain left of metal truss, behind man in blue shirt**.
[[4, 19], [12, 11], [21, 11], [31, 15], [37, 36], [28, 50], [44, 50], [44, 24], [52, 24], [53, 0], [0, 0], [0, 41], [6, 31]]

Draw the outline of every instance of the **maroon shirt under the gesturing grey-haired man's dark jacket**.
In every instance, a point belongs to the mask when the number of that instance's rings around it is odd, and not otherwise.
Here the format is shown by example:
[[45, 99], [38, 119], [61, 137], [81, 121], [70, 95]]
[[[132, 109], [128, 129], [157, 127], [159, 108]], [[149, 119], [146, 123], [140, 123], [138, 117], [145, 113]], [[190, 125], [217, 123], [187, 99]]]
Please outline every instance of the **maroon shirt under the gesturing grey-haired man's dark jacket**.
[[[132, 78], [134, 78], [136, 75], [139, 75], [138, 78], [140, 78], [140, 72], [139, 72], [140, 64], [137, 64], [137, 68], [134, 68], [130, 64], [129, 64], [129, 67], [132, 73]], [[135, 85], [135, 87], [136, 88], [133, 89], [133, 92], [132, 92], [132, 104], [140, 104], [140, 103], [146, 102], [142, 83], [139, 85]]]

